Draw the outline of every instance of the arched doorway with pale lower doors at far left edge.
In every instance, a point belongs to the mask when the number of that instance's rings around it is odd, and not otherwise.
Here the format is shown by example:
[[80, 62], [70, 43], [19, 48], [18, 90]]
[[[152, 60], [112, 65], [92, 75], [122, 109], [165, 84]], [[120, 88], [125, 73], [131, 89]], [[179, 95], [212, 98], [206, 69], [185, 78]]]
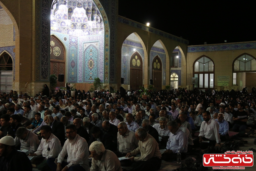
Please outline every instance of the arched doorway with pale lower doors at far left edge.
[[6, 52], [0, 56], [0, 80], [1, 94], [13, 89], [13, 60]]

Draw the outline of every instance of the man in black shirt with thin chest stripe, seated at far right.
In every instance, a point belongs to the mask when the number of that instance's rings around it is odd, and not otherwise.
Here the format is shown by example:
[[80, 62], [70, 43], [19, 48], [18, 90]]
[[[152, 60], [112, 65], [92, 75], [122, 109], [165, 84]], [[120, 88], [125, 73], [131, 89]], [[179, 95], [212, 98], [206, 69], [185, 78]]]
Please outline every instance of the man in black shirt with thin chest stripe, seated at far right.
[[235, 132], [241, 132], [244, 131], [247, 128], [246, 122], [248, 120], [247, 112], [243, 110], [243, 104], [239, 103], [237, 105], [237, 111], [233, 115], [233, 131]]

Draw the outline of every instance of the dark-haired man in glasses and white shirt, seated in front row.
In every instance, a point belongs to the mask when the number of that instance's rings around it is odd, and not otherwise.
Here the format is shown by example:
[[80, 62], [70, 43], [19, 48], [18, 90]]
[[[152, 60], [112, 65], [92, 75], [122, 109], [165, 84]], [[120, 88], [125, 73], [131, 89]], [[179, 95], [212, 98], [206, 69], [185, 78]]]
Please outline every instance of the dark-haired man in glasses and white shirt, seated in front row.
[[[66, 127], [66, 135], [68, 140], [65, 141], [58, 158], [48, 158], [48, 166], [54, 171], [89, 170], [89, 151], [86, 140], [77, 134], [75, 125], [68, 125]], [[68, 154], [67, 162], [63, 161], [66, 154]]]

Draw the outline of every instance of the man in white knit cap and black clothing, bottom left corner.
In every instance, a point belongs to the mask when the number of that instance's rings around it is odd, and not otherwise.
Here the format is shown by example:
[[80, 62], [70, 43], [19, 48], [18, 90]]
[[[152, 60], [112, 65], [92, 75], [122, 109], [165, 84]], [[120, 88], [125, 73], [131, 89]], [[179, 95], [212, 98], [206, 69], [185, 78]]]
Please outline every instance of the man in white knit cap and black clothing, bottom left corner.
[[26, 154], [15, 149], [13, 137], [0, 139], [0, 170], [32, 171], [32, 164]]

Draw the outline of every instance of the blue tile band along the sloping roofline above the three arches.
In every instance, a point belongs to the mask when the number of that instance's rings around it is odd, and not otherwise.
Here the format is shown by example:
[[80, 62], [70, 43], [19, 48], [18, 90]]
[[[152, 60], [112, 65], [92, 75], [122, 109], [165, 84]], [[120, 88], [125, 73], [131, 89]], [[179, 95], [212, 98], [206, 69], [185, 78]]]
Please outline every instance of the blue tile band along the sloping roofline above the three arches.
[[188, 40], [176, 37], [176, 36], [174, 36], [172, 34], [169, 34], [169, 33], [161, 32], [160, 30], [155, 30], [154, 28], [150, 28], [148, 26], [141, 25], [141, 23], [136, 23], [135, 21], [129, 21], [129, 19], [121, 17], [121, 16], [118, 17], [118, 21], [120, 23], [124, 23], [124, 24], [130, 25], [132, 27], [140, 28], [142, 30], [146, 30], [148, 32], [152, 32], [154, 34], [158, 34], [160, 36], [172, 39], [172, 40], [174, 40], [176, 42], [181, 42], [181, 43], [184, 43], [184, 44], [189, 44]]

